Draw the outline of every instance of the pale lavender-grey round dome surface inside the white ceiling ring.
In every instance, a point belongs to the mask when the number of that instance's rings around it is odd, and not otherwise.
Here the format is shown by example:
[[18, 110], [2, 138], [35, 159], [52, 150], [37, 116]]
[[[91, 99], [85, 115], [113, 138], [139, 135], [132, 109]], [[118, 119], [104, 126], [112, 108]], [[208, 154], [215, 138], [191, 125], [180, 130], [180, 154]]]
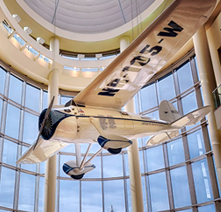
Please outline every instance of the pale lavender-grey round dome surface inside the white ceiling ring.
[[154, 0], [24, 0], [51, 24], [71, 32], [100, 33], [120, 27]]

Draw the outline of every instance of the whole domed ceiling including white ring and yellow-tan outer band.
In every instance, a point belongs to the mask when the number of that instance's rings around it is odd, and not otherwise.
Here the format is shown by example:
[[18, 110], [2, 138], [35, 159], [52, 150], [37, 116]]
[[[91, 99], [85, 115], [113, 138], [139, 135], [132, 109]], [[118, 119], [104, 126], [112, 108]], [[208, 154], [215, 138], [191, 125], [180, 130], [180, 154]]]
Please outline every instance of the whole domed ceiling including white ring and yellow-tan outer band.
[[50, 45], [77, 53], [104, 53], [119, 49], [122, 36], [134, 40], [174, 0], [1, 0], [17, 14], [23, 29]]

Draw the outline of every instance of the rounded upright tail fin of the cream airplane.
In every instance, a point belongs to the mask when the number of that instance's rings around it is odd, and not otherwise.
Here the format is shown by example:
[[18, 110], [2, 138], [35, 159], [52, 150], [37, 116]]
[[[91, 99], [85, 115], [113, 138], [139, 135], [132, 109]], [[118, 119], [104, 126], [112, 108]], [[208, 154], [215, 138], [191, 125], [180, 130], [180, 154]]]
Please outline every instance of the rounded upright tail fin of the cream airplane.
[[180, 118], [180, 114], [169, 101], [163, 100], [159, 107], [159, 117], [163, 121], [173, 122]]

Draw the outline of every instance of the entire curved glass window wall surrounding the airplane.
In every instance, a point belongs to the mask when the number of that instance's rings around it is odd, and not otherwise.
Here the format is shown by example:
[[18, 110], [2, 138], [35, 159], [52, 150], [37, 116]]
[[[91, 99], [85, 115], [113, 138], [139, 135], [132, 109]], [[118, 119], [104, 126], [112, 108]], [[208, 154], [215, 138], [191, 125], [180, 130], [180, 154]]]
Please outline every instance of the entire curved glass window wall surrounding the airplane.
[[[38, 134], [40, 111], [47, 92], [11, 69], [0, 68], [0, 211], [43, 211], [45, 163], [16, 164]], [[71, 97], [61, 96], [60, 103]], [[203, 106], [196, 60], [190, 54], [166, 70], [135, 97], [136, 112], [159, 118], [162, 100], [171, 101], [181, 114]], [[180, 130], [163, 144], [146, 147], [138, 139], [145, 212], [215, 212], [220, 196], [207, 121]], [[81, 145], [82, 157], [88, 144]], [[93, 144], [89, 156], [99, 150]], [[62, 166], [75, 159], [73, 144], [57, 157], [57, 212], [132, 212], [127, 150], [119, 155], [103, 151], [96, 168], [80, 181], [64, 174]]]

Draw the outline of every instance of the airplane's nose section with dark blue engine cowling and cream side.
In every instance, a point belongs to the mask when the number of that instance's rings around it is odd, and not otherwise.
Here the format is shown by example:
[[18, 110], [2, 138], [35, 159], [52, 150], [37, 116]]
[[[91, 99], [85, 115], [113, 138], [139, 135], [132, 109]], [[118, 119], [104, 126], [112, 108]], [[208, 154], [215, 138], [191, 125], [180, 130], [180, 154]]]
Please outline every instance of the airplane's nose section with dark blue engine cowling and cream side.
[[[39, 130], [44, 120], [47, 109], [43, 110], [39, 116]], [[41, 137], [44, 140], [51, 138], [71, 143], [76, 137], [77, 121], [74, 115], [69, 115], [57, 110], [51, 110], [45, 121]]]

